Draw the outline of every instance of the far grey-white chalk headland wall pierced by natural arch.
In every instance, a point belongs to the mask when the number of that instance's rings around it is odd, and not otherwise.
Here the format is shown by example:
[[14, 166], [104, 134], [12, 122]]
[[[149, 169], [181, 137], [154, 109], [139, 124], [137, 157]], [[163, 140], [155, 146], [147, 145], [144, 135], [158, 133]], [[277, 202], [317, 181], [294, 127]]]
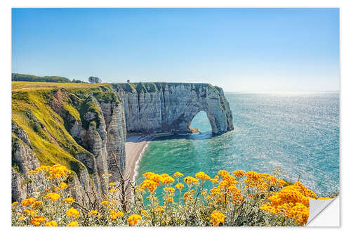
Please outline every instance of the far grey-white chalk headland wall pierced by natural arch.
[[148, 93], [124, 93], [127, 131], [190, 133], [191, 121], [201, 110], [207, 113], [213, 134], [234, 129], [223, 89], [208, 84], [160, 83], [157, 87]]

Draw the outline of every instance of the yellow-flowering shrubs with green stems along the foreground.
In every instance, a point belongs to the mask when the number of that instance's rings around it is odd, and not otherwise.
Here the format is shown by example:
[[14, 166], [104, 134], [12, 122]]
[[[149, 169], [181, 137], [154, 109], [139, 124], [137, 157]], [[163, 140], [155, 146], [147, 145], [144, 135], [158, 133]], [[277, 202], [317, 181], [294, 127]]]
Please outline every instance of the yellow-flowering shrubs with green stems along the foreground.
[[[46, 174], [48, 183], [37, 197], [13, 202], [13, 226], [301, 226], [308, 219], [308, 199], [316, 197], [300, 182], [286, 186], [255, 171], [221, 170], [214, 178], [202, 171], [194, 177], [147, 172], [126, 206], [119, 199], [121, 184], [111, 182], [103, 200], [86, 207], [71, 196], [65, 167], [42, 166], [28, 174], [34, 181]], [[158, 187], [162, 200], [155, 195]]]

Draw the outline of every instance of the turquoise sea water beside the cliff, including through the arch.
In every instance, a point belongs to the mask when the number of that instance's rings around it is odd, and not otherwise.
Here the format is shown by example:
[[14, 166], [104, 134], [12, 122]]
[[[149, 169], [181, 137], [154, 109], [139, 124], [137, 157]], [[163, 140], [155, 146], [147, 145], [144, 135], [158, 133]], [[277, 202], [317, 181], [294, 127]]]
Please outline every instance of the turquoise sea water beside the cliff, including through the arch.
[[212, 136], [205, 112], [201, 134], [155, 138], [145, 149], [137, 181], [147, 171], [194, 176], [220, 169], [271, 173], [300, 181], [317, 195], [339, 188], [339, 93], [226, 93], [234, 131]]

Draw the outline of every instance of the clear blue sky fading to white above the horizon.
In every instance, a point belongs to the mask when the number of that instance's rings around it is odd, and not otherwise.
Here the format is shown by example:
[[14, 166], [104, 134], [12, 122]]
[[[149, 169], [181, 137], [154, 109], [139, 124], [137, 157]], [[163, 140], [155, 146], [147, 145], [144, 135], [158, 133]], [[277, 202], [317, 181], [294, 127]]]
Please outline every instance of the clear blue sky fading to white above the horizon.
[[12, 72], [339, 90], [339, 11], [14, 8]]

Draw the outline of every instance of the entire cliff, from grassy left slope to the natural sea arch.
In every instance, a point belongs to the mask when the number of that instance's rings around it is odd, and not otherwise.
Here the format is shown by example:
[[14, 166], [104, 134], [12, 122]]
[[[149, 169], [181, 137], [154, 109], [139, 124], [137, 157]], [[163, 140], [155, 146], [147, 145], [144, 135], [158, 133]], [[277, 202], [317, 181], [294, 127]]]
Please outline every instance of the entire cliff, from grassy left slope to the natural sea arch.
[[[27, 171], [60, 163], [73, 171], [72, 195], [88, 204], [123, 173], [127, 133], [187, 134], [199, 111], [213, 134], [234, 129], [223, 89], [211, 84], [128, 83], [15, 90], [12, 93], [12, 198], [34, 193]], [[110, 178], [107, 177], [110, 174]], [[90, 193], [87, 193], [90, 192]]]

